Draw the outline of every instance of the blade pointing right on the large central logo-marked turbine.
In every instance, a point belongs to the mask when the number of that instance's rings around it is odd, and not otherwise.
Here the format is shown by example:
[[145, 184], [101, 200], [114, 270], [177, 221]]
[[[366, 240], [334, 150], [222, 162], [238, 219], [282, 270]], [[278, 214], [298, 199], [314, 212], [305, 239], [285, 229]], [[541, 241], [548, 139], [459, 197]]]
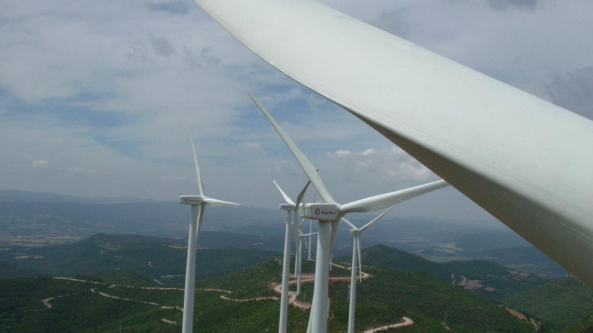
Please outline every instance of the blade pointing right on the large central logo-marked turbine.
[[429, 182], [428, 184], [418, 185], [415, 187], [406, 188], [405, 190], [394, 191], [391, 193], [379, 194], [378, 196], [368, 197], [361, 200], [356, 200], [351, 203], [340, 206], [340, 214], [346, 213], [364, 213], [381, 210], [394, 204], [401, 203], [411, 198], [420, 196], [438, 188], [448, 186], [449, 184], [444, 180]]

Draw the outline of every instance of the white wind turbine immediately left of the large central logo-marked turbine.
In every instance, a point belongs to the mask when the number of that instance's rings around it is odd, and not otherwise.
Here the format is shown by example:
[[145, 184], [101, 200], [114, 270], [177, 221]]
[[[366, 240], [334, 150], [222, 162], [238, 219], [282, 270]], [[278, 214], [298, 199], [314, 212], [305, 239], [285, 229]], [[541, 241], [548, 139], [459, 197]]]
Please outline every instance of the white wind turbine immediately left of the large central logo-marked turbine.
[[[286, 195], [286, 193], [280, 188], [280, 185], [273, 180], [274, 185], [282, 194], [282, 197], [286, 201], [286, 203], [280, 204], [281, 210], [286, 210], [286, 230], [284, 233], [284, 257], [282, 261], [282, 293], [280, 294], [280, 321], [278, 325], [278, 332], [285, 333], [286, 332], [286, 322], [288, 321], [288, 281], [290, 278], [290, 265], [291, 265], [291, 224], [294, 226], [295, 229], [295, 248], [298, 247], [298, 223], [297, 223], [297, 210], [298, 210], [298, 203], [301, 202], [302, 197], [305, 196], [305, 191], [307, 191], [307, 187], [311, 184], [311, 181], [308, 181], [305, 187], [302, 188], [301, 193], [297, 196], [297, 203], [295, 204], [291, 198]], [[291, 223], [291, 217], [294, 213], [295, 219], [294, 223]], [[295, 255], [295, 259], [298, 259], [298, 249]], [[298, 260], [295, 260], [295, 275], [297, 275], [297, 264]]]

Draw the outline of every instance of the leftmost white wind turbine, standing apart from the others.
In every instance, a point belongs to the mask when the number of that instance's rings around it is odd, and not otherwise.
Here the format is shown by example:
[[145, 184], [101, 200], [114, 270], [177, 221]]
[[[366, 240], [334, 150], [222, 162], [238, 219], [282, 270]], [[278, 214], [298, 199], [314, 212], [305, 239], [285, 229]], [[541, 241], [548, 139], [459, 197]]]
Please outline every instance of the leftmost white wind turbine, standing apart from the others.
[[[193, 330], [193, 297], [195, 293], [194, 285], [196, 282], [196, 242], [197, 235], [202, 228], [202, 219], [204, 218], [204, 209], [206, 206], [238, 206], [238, 203], [217, 200], [209, 198], [204, 193], [202, 177], [200, 177], [200, 168], [197, 165], [196, 148], [193, 145], [192, 133], [189, 133], [192, 142], [193, 161], [196, 165], [197, 186], [200, 191], [199, 196], [179, 196], [179, 203], [192, 206], [192, 220], [189, 225], [189, 239], [187, 240], [187, 263], [186, 263], [186, 283], [183, 296], [183, 326], [181, 332], [192, 333]], [[199, 213], [198, 213], [199, 209]]]

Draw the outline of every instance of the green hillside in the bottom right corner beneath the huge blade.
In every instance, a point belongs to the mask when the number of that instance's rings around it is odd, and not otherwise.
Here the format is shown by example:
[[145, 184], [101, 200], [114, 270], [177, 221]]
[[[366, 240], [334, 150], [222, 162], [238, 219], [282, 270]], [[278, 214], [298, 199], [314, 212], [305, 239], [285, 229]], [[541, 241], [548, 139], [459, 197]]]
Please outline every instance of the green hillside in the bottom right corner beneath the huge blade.
[[[536, 316], [543, 329], [556, 331], [593, 315], [593, 288], [573, 277], [562, 277], [506, 298], [505, 305]], [[590, 325], [590, 318], [588, 324]], [[590, 331], [588, 331], [590, 332]]]

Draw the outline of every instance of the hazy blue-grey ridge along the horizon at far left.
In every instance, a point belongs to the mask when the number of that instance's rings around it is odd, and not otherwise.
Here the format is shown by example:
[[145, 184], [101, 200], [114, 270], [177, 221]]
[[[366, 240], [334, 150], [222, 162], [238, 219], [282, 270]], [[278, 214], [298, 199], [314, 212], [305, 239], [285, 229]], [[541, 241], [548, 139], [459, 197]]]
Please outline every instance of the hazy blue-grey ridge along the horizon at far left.
[[21, 190], [0, 190], [0, 202], [60, 202], [60, 203], [94, 203], [121, 204], [154, 202], [155, 200], [139, 197], [77, 197], [66, 194], [31, 192]]

